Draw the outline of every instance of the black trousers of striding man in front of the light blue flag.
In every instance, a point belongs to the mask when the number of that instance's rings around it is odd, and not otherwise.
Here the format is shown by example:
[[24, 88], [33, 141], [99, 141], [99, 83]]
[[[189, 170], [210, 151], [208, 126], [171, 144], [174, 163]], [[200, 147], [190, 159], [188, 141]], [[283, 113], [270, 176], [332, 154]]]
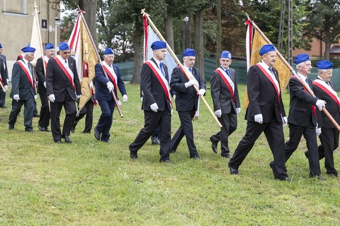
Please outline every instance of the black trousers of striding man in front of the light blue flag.
[[160, 160], [169, 160], [170, 140], [171, 140], [171, 111], [166, 109], [154, 112], [144, 110], [144, 128], [141, 129], [134, 141], [129, 145], [131, 152], [136, 152], [148, 141], [151, 134], [159, 126]]

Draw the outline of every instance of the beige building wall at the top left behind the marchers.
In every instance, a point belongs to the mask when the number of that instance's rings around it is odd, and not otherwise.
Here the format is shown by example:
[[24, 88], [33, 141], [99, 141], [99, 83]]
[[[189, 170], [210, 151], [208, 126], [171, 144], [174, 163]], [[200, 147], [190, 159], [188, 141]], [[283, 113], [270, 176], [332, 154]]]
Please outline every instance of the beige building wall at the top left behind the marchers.
[[54, 46], [60, 41], [60, 9], [59, 5], [50, 4], [46, 0], [0, 0], [0, 43], [3, 54], [7, 58], [9, 76], [11, 78], [12, 66], [21, 49], [31, 40], [34, 3], [36, 2], [42, 27], [42, 20], [46, 20], [46, 28], [41, 28], [42, 42], [45, 46], [52, 43]]

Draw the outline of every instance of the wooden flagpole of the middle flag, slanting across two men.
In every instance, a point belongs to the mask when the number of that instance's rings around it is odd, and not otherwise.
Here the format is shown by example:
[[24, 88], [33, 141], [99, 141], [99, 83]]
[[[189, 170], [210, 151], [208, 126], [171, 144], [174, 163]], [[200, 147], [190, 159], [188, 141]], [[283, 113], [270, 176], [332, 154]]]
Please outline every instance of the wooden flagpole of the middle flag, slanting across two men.
[[[158, 35], [159, 39], [166, 43], [166, 48], [167, 48], [167, 50], [169, 51], [169, 53], [172, 55], [172, 57], [174, 58], [174, 60], [177, 62], [177, 65], [183, 67], [181, 61], [177, 58], [177, 56], [176, 56], [176, 54], [174, 53], [174, 51], [173, 51], [173, 50], [171, 49], [171, 47], [167, 44], [167, 42], [165, 41], [164, 37], [162, 36], [162, 34], [159, 32], [159, 30], [158, 30], [157, 27], [155, 26], [155, 24], [151, 21], [151, 19], [150, 19], [150, 17], [149, 17], [150, 15], [145, 13], [145, 9], [142, 10], [142, 14], [145, 14], [145, 15], [146, 15], [146, 18], [148, 19], [148, 21], [149, 21], [149, 23], [150, 23], [152, 29], [153, 29], [153, 30], [156, 32], [156, 34]], [[186, 76], [187, 79], [190, 81], [191, 78], [190, 78], [189, 74], [187, 74], [187, 72], [186, 72], [185, 70], [184, 70], [184, 72], [185, 72], [185, 76]], [[196, 90], [196, 92], [198, 93], [199, 90], [198, 90], [197, 86], [196, 86], [196, 85], [193, 85], [193, 87], [194, 87], [194, 89]], [[215, 113], [214, 113], [213, 110], [210, 108], [208, 102], [207, 102], [206, 99], [203, 97], [203, 95], [201, 95], [200, 98], [201, 98], [201, 99], [203, 100], [203, 102], [206, 104], [206, 106], [207, 106], [207, 108], [208, 108], [210, 114], [213, 116], [213, 118], [215, 119], [216, 123], [217, 123], [220, 127], [222, 127], [221, 123], [218, 121], [218, 119], [217, 119]]]

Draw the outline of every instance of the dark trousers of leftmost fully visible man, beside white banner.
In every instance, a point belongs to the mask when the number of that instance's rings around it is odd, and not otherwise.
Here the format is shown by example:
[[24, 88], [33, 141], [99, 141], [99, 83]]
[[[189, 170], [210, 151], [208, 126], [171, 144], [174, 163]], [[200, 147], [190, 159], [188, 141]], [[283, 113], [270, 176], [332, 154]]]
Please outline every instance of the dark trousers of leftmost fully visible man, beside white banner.
[[21, 110], [22, 105], [24, 105], [24, 125], [25, 129], [33, 129], [33, 109], [34, 109], [34, 96], [30, 95], [27, 100], [12, 100], [12, 110], [10, 112], [10, 117], [8, 124], [14, 126], [17, 122], [18, 114]]

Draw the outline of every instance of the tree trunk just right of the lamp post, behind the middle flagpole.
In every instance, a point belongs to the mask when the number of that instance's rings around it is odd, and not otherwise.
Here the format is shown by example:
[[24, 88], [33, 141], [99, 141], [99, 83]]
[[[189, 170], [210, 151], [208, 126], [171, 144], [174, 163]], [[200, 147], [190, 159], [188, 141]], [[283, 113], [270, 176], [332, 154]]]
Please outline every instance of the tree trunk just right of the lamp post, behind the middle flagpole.
[[194, 22], [194, 49], [196, 52], [195, 66], [200, 70], [203, 80], [205, 80], [204, 74], [204, 47], [203, 47], [203, 12], [201, 9], [197, 11], [193, 16]]

